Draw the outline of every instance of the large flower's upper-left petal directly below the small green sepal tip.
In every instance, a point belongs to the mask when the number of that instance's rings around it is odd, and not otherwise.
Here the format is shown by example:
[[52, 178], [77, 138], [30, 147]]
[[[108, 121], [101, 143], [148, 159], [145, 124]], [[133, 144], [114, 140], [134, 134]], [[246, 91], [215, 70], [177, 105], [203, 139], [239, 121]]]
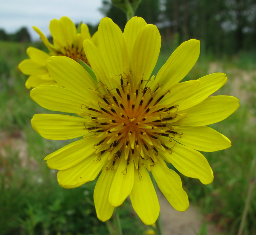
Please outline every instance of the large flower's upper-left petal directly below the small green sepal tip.
[[52, 56], [47, 62], [50, 76], [63, 87], [83, 96], [88, 88], [95, 90], [97, 84], [86, 70], [66, 56]]

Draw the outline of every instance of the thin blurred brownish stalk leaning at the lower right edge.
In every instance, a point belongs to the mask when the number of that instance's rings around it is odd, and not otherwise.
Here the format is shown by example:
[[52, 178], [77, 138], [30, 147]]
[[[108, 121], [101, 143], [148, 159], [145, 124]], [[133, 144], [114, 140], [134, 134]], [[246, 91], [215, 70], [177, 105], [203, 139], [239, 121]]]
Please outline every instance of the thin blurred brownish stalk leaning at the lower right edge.
[[245, 222], [246, 222], [246, 216], [248, 214], [249, 211], [249, 207], [250, 207], [250, 201], [252, 198], [252, 194], [253, 194], [253, 189], [255, 186], [255, 182], [256, 182], [256, 155], [254, 156], [254, 159], [252, 161], [252, 168], [251, 168], [251, 172], [250, 172], [250, 184], [249, 184], [249, 188], [248, 188], [248, 192], [247, 192], [247, 197], [246, 197], [246, 203], [243, 209], [243, 215], [242, 215], [242, 220], [239, 226], [239, 231], [238, 231], [238, 235], [242, 235], [243, 234], [243, 230], [245, 227]]

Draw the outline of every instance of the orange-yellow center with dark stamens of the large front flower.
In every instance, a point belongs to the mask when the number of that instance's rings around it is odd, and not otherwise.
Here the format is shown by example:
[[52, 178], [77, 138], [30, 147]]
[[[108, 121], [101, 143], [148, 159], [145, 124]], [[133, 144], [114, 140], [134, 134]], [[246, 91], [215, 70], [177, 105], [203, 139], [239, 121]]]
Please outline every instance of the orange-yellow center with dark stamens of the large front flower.
[[113, 168], [121, 156], [133, 158], [137, 163], [140, 159], [151, 160], [154, 164], [159, 150], [171, 153], [176, 143], [173, 138], [182, 135], [172, 125], [177, 119], [178, 105], [160, 104], [167, 94], [159, 95], [160, 89], [152, 93], [147, 85], [141, 88], [142, 84], [138, 84], [133, 91], [128, 81], [123, 85], [122, 79], [116, 89], [104, 87], [106, 93], [95, 91], [99, 97], [98, 108], [86, 106], [85, 113], [91, 120], [84, 123], [83, 128], [94, 132], [100, 140], [94, 146], [95, 153], [101, 155], [109, 151]]

